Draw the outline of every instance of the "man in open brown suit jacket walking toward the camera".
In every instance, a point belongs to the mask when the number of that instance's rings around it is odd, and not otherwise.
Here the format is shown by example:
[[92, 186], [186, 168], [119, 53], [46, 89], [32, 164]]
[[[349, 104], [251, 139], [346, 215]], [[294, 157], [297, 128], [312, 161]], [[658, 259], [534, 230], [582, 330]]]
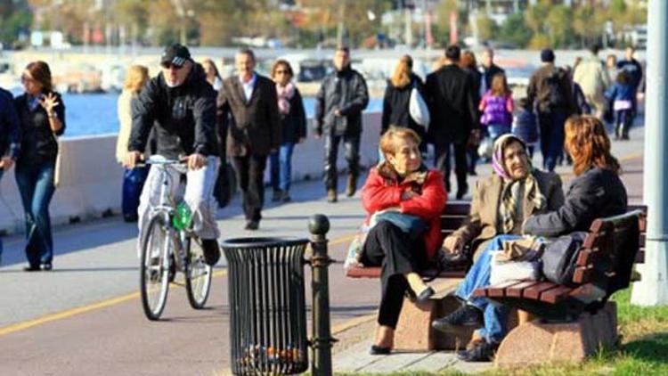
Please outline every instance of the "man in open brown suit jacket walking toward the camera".
[[218, 128], [227, 135], [227, 153], [243, 194], [245, 228], [257, 230], [265, 203], [267, 155], [281, 145], [278, 98], [273, 81], [255, 72], [253, 51], [240, 50], [234, 63], [238, 75], [225, 79], [218, 94]]

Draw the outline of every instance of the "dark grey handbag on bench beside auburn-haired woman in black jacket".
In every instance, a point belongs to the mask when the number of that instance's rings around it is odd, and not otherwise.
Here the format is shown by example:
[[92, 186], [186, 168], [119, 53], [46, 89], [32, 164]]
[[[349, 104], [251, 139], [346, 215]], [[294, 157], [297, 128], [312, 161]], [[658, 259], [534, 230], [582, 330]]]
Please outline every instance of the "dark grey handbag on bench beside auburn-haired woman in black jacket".
[[548, 281], [574, 286], [577, 257], [587, 234], [584, 231], [569, 233], [548, 244], [542, 254], [542, 274]]

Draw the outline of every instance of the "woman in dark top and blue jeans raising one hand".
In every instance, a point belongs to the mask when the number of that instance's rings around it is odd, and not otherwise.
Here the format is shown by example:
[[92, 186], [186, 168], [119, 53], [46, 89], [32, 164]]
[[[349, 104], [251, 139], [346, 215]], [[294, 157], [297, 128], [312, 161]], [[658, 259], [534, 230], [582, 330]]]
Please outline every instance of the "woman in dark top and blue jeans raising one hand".
[[57, 137], [65, 132], [65, 104], [53, 91], [51, 69], [33, 61], [21, 74], [25, 90], [15, 100], [21, 130], [16, 184], [26, 218], [28, 272], [51, 270], [53, 237], [49, 204], [55, 192]]

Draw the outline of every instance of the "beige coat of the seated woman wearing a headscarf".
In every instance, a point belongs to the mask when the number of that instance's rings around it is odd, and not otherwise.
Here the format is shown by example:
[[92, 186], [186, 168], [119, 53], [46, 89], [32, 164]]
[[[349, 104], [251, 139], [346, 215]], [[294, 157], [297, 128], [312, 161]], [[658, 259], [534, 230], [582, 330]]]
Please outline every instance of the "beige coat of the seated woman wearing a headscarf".
[[[561, 178], [557, 174], [534, 170], [534, 177], [538, 183], [538, 189], [547, 199], [547, 205], [545, 208], [538, 209], [534, 207], [533, 200], [525, 199], [522, 203], [524, 208], [522, 217], [524, 218], [557, 210], [564, 204]], [[494, 236], [501, 234], [498, 229], [501, 188], [501, 177], [496, 175], [478, 181], [471, 200], [468, 223], [452, 233], [452, 236], [459, 236], [465, 244], [471, 242], [474, 255], [478, 254], [479, 250], [485, 249]], [[521, 224], [516, 226], [516, 229], [520, 228]]]

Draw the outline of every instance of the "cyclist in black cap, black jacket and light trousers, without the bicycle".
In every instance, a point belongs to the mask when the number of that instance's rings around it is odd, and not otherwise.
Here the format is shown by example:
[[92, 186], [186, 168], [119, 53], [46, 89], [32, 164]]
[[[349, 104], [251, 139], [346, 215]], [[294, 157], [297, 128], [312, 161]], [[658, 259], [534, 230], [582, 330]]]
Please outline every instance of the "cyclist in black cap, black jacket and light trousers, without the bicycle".
[[[143, 86], [132, 102], [132, 134], [124, 165], [134, 168], [146, 147], [151, 128], [155, 154], [167, 159], [187, 161], [187, 183], [183, 200], [191, 209], [193, 231], [202, 241], [204, 257], [210, 266], [220, 258], [216, 225], [216, 199], [213, 196], [218, 170], [216, 140], [216, 91], [208, 84], [200, 64], [191, 59], [188, 48], [171, 45], [160, 58], [161, 72]], [[139, 199], [139, 235], [151, 219], [151, 207], [159, 202], [163, 179], [159, 168], [151, 168]], [[173, 181], [179, 172], [170, 170]], [[172, 184], [175, 191], [178, 184]]]

